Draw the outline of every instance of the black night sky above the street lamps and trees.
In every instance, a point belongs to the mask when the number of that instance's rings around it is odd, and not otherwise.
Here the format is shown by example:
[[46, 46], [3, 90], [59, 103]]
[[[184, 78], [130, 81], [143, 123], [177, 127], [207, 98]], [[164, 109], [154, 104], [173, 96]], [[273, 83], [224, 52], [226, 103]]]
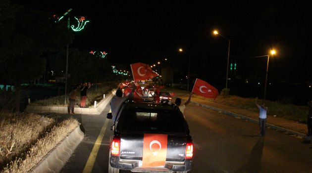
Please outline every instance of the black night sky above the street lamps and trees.
[[[27, 8], [90, 20], [76, 33], [71, 47], [102, 50], [111, 63], [152, 64], [168, 58], [186, 70], [191, 55], [191, 74], [209, 78], [225, 75], [228, 41], [212, 35], [213, 29], [231, 40], [230, 61], [242, 74], [263, 72], [268, 54], [271, 76], [291, 83], [312, 81], [312, 3], [269, 1], [114, 0], [32, 1], [13, 0]], [[74, 20], [71, 20], [74, 23]], [[75, 23], [76, 24], [76, 23]], [[243, 56], [246, 58], [238, 58]]]

